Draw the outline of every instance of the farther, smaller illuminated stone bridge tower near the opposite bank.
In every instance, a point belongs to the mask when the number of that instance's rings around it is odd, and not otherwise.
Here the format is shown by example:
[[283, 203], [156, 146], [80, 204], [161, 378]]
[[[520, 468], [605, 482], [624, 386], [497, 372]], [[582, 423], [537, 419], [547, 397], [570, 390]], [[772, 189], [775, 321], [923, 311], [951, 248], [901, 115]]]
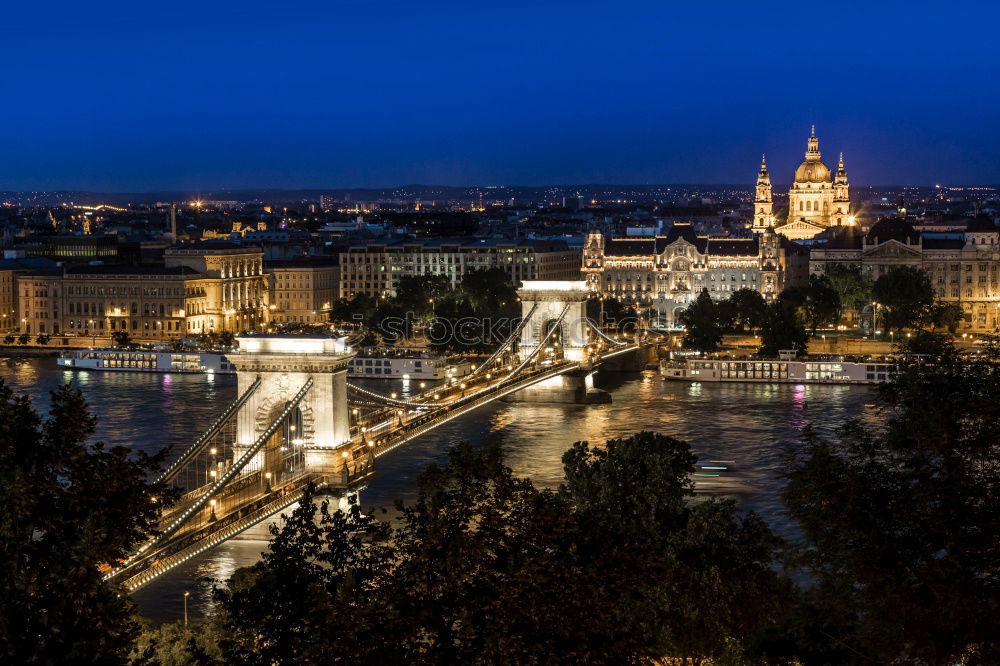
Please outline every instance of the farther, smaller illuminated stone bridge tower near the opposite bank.
[[[521, 299], [521, 317], [527, 323], [521, 329], [519, 353], [526, 358], [549, 336], [558, 342], [563, 357], [583, 361], [586, 357], [587, 299], [590, 292], [584, 280], [526, 280], [517, 295]], [[550, 334], [553, 328], [558, 330]]]

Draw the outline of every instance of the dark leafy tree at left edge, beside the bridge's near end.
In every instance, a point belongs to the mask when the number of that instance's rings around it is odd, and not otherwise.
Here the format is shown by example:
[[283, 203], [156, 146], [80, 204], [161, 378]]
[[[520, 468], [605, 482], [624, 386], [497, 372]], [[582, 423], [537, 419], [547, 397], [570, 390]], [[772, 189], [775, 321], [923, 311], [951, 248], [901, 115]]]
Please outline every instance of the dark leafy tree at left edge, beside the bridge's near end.
[[90, 442], [79, 390], [52, 392], [42, 420], [0, 381], [0, 655], [5, 663], [125, 663], [139, 632], [101, 569], [153, 533], [174, 493], [147, 456]]

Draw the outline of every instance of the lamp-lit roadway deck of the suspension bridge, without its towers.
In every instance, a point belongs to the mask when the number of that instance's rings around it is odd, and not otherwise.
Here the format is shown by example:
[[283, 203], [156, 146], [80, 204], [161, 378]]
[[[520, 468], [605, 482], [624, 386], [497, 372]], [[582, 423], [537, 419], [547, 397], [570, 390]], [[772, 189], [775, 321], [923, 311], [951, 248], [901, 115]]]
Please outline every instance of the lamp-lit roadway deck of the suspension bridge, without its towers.
[[[128, 591], [134, 592], [175, 566], [294, 505], [310, 483], [326, 492], [343, 493], [374, 473], [378, 457], [452, 419], [546, 379], [574, 370], [595, 368], [609, 358], [635, 352], [643, 346], [640, 343], [621, 345], [583, 362], [548, 360], [533, 367], [521, 368], [513, 376], [503, 376], [505, 371], [513, 370], [513, 366], [501, 367], [498, 373], [482, 373], [469, 378], [469, 381], [430, 389], [405, 401], [392, 400], [396, 403], [392, 407], [378, 410], [352, 427], [352, 439], [344, 447], [343, 465], [339, 471], [333, 474], [302, 471], [273, 484], [263, 483], [260, 472], [233, 479], [233, 485], [224, 489], [220, 497], [254, 485], [259, 491], [242, 498], [238, 506], [229, 506], [224, 515], [216, 516], [213, 500], [212, 518], [207, 523], [186, 526], [164, 543], [142, 552], [111, 572], [108, 577], [119, 580]], [[203, 489], [187, 493], [164, 513], [161, 524], [169, 524], [203, 493]]]

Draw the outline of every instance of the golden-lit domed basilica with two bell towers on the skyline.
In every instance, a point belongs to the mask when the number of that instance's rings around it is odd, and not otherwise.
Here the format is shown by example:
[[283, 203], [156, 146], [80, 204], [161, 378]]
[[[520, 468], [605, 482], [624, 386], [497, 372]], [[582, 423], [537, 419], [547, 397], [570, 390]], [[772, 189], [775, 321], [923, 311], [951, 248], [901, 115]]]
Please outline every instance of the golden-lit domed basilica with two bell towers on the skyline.
[[752, 228], [757, 233], [774, 229], [786, 238], [803, 240], [812, 238], [827, 227], [854, 224], [849, 188], [844, 155], [840, 155], [836, 174], [831, 175], [820, 158], [819, 139], [813, 128], [805, 160], [795, 170], [795, 179], [788, 191], [788, 218], [784, 224], [775, 224], [771, 176], [767, 171], [767, 162], [761, 160]]

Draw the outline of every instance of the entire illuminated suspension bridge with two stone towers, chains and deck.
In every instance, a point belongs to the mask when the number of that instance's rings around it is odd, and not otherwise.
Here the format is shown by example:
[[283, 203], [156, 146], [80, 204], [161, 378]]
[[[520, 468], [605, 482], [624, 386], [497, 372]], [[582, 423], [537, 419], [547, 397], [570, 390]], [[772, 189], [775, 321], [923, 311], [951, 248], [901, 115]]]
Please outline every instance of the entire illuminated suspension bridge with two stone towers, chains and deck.
[[346, 339], [246, 335], [228, 354], [237, 398], [160, 476], [182, 495], [157, 535], [106, 577], [137, 590], [294, 505], [309, 484], [332, 494], [364, 483], [378, 458], [507, 396], [588, 402], [591, 375], [658, 342], [620, 338], [586, 317], [584, 282], [525, 282], [510, 337], [465, 377], [405, 398], [347, 381]]

